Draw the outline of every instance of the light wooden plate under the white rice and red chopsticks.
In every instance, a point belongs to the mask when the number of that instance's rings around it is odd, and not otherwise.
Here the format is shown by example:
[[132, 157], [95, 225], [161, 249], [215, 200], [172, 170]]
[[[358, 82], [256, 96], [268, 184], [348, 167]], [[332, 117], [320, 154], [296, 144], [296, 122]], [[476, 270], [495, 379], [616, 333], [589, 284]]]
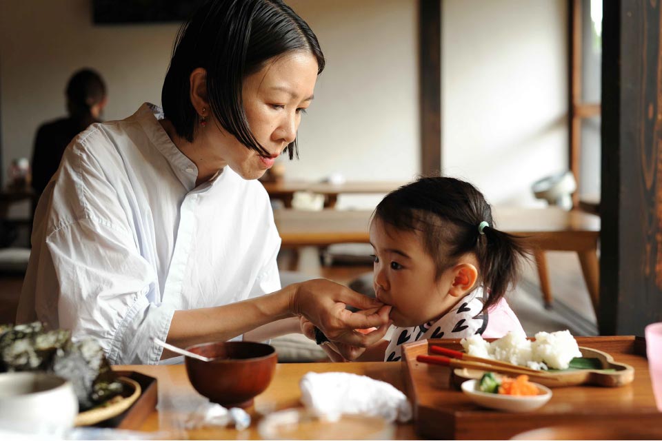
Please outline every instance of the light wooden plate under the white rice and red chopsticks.
[[[545, 376], [536, 376], [535, 381], [547, 387], [577, 386], [579, 384], [594, 384], [596, 386], [619, 387], [630, 384], [634, 380], [634, 368], [625, 363], [614, 362], [614, 358], [603, 351], [588, 347], [579, 347], [581, 356], [597, 358], [602, 363], [602, 369], [613, 369], [605, 372], [598, 369], [575, 369], [569, 371], [553, 371]], [[457, 387], [466, 380], [481, 378], [484, 371], [472, 369], [454, 369], [453, 382]], [[545, 378], [545, 377], [548, 377]]]

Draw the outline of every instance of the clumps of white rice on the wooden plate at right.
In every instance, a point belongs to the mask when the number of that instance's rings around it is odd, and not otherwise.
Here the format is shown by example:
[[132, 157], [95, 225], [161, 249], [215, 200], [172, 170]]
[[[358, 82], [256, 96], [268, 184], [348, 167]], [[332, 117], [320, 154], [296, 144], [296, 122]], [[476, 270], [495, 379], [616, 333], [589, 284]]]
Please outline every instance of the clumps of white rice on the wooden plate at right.
[[524, 334], [509, 332], [506, 336], [486, 342], [482, 336], [463, 338], [461, 345], [472, 356], [492, 358], [532, 369], [568, 369], [570, 360], [581, 357], [576, 340], [565, 331], [539, 332], [535, 341]]

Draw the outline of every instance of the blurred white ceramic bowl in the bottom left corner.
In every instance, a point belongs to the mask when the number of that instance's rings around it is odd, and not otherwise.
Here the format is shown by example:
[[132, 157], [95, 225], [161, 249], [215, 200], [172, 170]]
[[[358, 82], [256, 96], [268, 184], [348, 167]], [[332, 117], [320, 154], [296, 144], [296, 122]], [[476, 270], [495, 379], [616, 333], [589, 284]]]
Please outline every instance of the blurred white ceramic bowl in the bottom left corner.
[[68, 380], [45, 372], [0, 373], [0, 427], [63, 434], [77, 414], [78, 399]]

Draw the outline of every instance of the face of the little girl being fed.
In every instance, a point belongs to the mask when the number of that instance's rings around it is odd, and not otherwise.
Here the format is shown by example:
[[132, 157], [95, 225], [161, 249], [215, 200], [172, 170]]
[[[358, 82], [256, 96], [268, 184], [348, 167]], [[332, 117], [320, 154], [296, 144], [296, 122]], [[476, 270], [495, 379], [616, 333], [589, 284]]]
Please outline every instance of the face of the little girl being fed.
[[423, 248], [421, 236], [395, 229], [379, 218], [370, 225], [374, 249], [373, 287], [377, 298], [392, 305], [394, 325], [412, 327], [439, 318], [457, 302], [450, 296], [454, 274], [437, 279], [434, 260]]

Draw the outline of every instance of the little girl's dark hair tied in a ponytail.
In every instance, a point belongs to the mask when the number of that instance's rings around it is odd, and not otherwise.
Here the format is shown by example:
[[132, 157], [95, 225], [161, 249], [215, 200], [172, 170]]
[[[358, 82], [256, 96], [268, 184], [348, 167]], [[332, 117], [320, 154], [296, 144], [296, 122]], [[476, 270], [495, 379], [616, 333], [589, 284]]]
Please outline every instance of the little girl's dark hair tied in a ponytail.
[[[483, 311], [496, 304], [519, 275], [528, 249], [522, 238], [495, 228], [492, 208], [470, 183], [448, 177], [419, 178], [389, 193], [377, 205], [374, 218], [401, 231], [421, 232], [425, 251], [434, 259], [437, 278], [472, 253], [479, 281], [490, 293]], [[489, 227], [479, 232], [481, 222]]]

